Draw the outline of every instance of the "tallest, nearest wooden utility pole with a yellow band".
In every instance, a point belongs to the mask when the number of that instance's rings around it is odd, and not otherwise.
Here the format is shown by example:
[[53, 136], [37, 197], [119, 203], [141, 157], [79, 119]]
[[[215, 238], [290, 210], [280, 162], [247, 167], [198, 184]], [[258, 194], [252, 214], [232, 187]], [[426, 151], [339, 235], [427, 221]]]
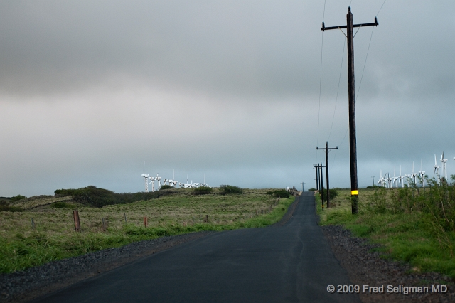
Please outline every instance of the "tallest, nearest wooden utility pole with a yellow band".
[[349, 95], [349, 151], [350, 151], [350, 200], [352, 213], [358, 213], [358, 185], [357, 185], [357, 142], [355, 139], [355, 81], [354, 81], [354, 33], [353, 28], [364, 26], [378, 26], [378, 19], [374, 23], [353, 24], [353, 13], [348, 7], [346, 26], [326, 27], [322, 23], [322, 31], [346, 28], [348, 38], [348, 95]]

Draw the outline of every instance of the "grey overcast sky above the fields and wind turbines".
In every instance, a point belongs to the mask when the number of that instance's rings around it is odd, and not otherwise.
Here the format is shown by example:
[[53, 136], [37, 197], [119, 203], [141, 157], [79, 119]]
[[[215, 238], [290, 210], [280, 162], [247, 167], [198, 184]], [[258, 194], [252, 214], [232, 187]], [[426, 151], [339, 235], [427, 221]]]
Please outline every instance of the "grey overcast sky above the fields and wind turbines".
[[309, 188], [326, 141], [350, 187], [346, 38], [321, 31], [349, 5], [379, 22], [354, 39], [359, 186], [443, 151], [455, 174], [454, 1], [1, 1], [0, 196], [144, 191], [144, 161]]

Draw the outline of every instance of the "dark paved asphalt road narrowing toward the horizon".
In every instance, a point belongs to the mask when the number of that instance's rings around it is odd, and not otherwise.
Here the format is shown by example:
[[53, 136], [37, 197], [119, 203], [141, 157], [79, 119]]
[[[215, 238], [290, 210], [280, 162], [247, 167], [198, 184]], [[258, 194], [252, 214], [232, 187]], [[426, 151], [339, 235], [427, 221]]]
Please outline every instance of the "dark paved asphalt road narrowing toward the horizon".
[[214, 233], [33, 302], [360, 302], [304, 193], [282, 227]]

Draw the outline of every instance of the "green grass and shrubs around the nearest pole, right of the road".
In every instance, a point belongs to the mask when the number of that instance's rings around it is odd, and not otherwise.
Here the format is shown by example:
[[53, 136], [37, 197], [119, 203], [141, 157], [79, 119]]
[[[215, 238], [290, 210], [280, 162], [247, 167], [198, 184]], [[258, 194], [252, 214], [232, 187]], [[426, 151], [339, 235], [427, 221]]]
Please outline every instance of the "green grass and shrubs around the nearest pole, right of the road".
[[384, 257], [409, 262], [414, 272], [455, 279], [452, 186], [361, 189], [358, 215], [351, 214], [350, 190], [338, 193], [323, 211], [316, 195], [321, 225], [343, 225], [383, 245]]

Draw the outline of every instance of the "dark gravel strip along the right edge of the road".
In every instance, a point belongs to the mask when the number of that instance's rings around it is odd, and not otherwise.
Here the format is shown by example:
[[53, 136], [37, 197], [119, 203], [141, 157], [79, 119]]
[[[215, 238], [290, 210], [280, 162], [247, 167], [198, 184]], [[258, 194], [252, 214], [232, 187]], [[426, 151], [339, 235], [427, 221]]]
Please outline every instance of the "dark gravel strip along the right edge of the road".
[[[339, 225], [327, 225], [321, 228], [331, 245], [333, 254], [347, 270], [351, 282], [360, 285], [362, 302], [455, 302], [455, 286], [449, 277], [436, 272], [419, 273], [408, 264], [387, 260], [381, 257], [379, 252], [371, 251], [380, 245], [372, 244], [365, 238], [355, 238], [349, 230]], [[447, 286], [447, 292], [432, 293], [432, 285], [441, 284]], [[373, 287], [384, 285], [384, 293], [363, 293], [363, 285]], [[387, 285], [427, 286], [429, 292], [387, 293]]]

